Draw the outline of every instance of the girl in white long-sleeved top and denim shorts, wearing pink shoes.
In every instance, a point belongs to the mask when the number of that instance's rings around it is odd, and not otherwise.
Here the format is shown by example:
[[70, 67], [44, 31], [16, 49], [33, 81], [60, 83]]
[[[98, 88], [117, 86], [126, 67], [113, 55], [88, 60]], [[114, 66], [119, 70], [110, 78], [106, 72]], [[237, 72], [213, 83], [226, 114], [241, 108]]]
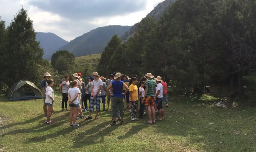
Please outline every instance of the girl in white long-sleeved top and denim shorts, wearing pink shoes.
[[53, 86], [53, 80], [52, 79], [46, 79], [46, 82], [48, 84], [46, 88], [46, 98], [45, 98], [45, 103], [47, 103], [48, 109], [47, 109], [47, 117], [46, 117], [46, 123], [48, 125], [53, 124], [52, 120], [50, 120], [51, 117], [51, 112], [53, 112], [53, 96], [54, 96], [54, 91], [52, 90]]

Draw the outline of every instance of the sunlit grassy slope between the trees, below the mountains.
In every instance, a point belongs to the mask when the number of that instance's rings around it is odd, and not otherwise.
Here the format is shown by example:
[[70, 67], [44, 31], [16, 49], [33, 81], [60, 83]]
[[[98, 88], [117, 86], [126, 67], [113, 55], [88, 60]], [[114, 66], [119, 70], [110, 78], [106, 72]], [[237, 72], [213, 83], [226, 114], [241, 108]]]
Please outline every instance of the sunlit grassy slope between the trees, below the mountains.
[[100, 59], [100, 57], [101, 54], [91, 54], [82, 57], [76, 57], [75, 62], [78, 65], [84, 65], [86, 63], [89, 63], [94, 67], [98, 64], [98, 59]]

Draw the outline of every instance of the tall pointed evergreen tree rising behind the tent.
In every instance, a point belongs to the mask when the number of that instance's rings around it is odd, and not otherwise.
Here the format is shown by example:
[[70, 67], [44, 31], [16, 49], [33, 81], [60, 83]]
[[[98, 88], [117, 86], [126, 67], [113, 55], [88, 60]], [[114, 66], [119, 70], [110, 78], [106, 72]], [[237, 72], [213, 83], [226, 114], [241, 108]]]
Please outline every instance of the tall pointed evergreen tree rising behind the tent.
[[16, 14], [7, 27], [3, 50], [3, 71], [7, 86], [11, 86], [23, 79], [34, 80], [40, 61], [43, 59], [43, 50], [36, 41], [36, 33], [32, 20], [23, 8]]

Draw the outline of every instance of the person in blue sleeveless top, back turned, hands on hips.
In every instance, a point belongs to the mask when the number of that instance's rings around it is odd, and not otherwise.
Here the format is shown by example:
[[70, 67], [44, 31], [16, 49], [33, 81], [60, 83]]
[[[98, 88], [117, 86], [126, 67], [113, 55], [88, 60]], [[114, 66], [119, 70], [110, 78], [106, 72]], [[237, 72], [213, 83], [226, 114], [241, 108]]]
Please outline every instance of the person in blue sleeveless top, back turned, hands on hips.
[[[117, 116], [117, 107], [119, 106], [120, 109], [120, 125], [123, 125], [123, 116], [124, 116], [124, 102], [123, 102], [123, 96], [126, 95], [126, 93], [129, 91], [129, 88], [127, 87], [127, 85], [123, 82], [120, 81], [121, 77], [123, 76], [123, 74], [121, 73], [116, 73], [114, 76], [114, 79], [116, 81], [112, 81], [110, 83], [110, 85], [108, 86], [107, 89], [112, 87], [112, 91], [113, 91], [113, 103], [112, 103], [112, 117], [113, 117], [113, 121], [110, 124], [111, 126], [115, 126], [116, 125], [116, 116]], [[126, 91], [123, 93], [123, 87], [126, 88]]]

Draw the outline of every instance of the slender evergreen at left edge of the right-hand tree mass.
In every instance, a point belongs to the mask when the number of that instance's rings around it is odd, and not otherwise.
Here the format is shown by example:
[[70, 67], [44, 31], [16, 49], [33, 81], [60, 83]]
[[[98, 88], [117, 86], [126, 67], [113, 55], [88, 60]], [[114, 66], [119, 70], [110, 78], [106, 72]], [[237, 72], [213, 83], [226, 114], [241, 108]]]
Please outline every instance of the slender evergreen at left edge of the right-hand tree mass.
[[112, 38], [109, 40], [108, 45], [105, 47], [104, 51], [101, 53], [101, 58], [99, 59], [99, 63], [97, 66], [98, 73], [103, 76], [107, 76], [110, 73], [113, 73], [115, 71], [108, 71], [108, 65], [109, 61], [114, 54], [116, 48], [119, 46], [119, 44], [122, 43], [122, 40], [115, 34], [112, 36]]

